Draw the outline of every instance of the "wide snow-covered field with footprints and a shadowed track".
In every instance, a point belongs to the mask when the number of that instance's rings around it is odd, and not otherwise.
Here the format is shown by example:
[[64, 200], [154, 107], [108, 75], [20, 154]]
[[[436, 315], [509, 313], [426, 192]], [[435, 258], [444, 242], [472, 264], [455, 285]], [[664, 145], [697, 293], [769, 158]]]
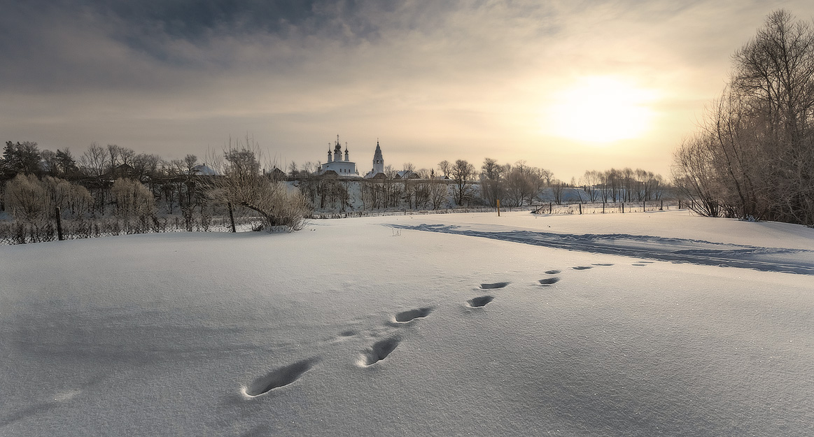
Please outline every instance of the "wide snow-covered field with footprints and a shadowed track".
[[814, 435], [814, 229], [686, 211], [0, 247], [0, 435]]

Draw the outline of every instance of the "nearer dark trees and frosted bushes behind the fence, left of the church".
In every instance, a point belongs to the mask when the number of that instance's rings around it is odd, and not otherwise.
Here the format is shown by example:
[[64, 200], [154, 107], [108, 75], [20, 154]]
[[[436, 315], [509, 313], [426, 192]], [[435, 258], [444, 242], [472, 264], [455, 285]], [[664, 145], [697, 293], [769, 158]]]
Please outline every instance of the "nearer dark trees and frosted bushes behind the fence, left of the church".
[[[24, 223], [37, 225], [55, 211], [66, 219], [96, 220], [95, 230], [86, 234], [166, 230], [168, 215], [182, 216], [182, 229], [192, 230], [195, 218], [196, 229], [205, 230], [212, 216], [227, 210], [232, 215], [233, 209], [260, 216], [260, 227], [303, 224], [309, 212], [304, 198], [262, 172], [260, 147], [252, 138], [230, 139], [208, 160], [211, 170], [202, 174], [195, 155], [167, 161], [91, 144], [75, 159], [67, 149], [40, 151], [35, 142], [7, 142], [0, 160], [0, 210], [18, 221], [13, 232], [20, 236], [14, 239], [22, 243]], [[102, 225], [115, 230], [98, 230], [104, 217]]]

